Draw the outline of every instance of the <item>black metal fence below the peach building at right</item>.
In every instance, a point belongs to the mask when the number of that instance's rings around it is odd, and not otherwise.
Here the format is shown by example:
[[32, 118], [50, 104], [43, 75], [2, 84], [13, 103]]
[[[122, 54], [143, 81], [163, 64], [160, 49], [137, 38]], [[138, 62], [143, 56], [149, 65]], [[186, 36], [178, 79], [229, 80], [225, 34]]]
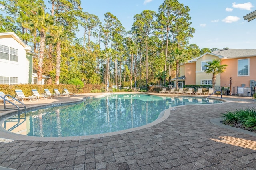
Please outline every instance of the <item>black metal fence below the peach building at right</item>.
[[215, 86], [215, 90], [221, 90], [222, 95], [232, 95], [232, 96], [252, 96], [256, 91], [256, 87], [221, 87]]

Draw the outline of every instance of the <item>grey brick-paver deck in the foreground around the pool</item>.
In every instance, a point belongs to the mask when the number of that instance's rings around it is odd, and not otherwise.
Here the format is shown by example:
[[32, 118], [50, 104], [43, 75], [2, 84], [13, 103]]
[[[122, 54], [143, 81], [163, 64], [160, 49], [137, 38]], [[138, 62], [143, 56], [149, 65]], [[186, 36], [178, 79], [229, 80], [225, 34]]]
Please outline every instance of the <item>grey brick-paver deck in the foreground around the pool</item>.
[[210, 120], [227, 110], [255, 107], [256, 102], [249, 97], [223, 98], [230, 102], [177, 107], [157, 125], [114, 136], [0, 142], [0, 166], [19, 170], [254, 170], [256, 136]]

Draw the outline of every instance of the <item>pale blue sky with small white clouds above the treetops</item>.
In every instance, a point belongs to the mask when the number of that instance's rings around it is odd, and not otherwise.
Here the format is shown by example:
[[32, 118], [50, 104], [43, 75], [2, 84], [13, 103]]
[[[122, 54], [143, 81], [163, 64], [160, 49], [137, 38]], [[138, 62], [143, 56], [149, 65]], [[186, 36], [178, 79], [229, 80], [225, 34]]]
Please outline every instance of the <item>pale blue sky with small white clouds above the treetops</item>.
[[[112, 13], [126, 31], [133, 17], [143, 10], [158, 12], [164, 0], [81, 0], [83, 11], [94, 14], [103, 22], [104, 14]], [[190, 8], [195, 28], [190, 44], [202, 48], [256, 49], [256, 19], [248, 22], [243, 16], [256, 10], [255, 0], [179, 0]], [[82, 31], [79, 34], [82, 34]]]

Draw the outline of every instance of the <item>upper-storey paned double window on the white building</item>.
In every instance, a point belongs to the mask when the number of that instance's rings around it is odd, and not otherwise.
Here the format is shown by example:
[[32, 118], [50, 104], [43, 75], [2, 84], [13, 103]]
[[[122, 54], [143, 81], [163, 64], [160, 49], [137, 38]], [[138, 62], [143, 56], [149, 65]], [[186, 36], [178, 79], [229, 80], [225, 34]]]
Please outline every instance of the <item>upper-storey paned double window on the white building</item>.
[[[10, 57], [9, 57], [9, 54], [10, 54]], [[9, 58], [10, 58], [10, 61], [18, 62], [18, 49], [10, 48], [10, 51], [9, 51], [9, 47], [0, 45], [0, 59], [9, 60]]]

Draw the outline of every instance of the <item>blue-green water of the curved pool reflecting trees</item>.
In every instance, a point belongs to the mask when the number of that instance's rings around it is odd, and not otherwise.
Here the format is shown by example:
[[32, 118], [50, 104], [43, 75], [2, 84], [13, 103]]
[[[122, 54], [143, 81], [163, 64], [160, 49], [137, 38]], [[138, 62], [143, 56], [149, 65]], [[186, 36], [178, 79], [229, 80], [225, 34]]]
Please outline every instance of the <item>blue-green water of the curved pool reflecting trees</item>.
[[50, 107], [7, 119], [4, 128], [14, 133], [40, 137], [85, 136], [140, 127], [178, 105], [221, 103], [195, 97], [108, 95], [82, 103]]

